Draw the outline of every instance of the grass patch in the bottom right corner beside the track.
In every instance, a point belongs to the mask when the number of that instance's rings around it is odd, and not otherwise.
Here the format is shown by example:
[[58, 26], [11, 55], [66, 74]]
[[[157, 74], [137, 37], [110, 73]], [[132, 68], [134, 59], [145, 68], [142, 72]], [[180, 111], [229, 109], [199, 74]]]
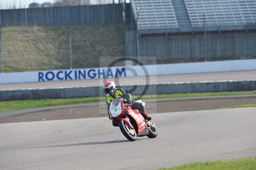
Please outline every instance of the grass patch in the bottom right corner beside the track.
[[158, 170], [254, 170], [256, 169], [256, 157], [216, 162], [196, 162], [176, 166], [172, 168], [159, 168]]

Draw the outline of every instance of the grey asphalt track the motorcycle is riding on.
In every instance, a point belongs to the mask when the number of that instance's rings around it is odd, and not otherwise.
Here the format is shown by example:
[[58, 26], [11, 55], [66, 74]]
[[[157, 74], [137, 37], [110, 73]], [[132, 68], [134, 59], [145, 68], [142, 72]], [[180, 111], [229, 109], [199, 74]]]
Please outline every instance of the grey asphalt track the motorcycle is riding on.
[[106, 119], [0, 124], [0, 169], [155, 169], [256, 156], [256, 108], [153, 114], [159, 134], [127, 142]]

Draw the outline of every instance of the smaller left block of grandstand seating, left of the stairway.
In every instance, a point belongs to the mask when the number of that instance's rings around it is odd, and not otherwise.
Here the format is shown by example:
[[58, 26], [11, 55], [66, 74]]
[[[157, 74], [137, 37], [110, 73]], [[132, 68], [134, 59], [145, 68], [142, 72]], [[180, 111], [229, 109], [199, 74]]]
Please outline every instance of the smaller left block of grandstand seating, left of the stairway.
[[179, 27], [171, 0], [131, 0], [131, 5], [137, 29]]

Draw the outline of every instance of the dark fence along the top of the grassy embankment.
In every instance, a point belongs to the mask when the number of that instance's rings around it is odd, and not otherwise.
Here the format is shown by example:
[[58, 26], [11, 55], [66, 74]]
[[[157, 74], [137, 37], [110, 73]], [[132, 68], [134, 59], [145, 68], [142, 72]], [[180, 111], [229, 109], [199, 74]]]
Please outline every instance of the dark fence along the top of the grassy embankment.
[[62, 6], [0, 11], [0, 24], [11, 26], [68, 26], [118, 24], [130, 19], [130, 4]]

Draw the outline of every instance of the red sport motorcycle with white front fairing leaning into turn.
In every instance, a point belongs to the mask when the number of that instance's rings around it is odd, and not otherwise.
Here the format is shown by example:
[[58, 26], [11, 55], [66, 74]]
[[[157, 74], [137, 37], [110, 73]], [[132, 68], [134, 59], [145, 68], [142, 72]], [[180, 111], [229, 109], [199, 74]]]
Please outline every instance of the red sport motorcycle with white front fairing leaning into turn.
[[[141, 100], [137, 102], [141, 102]], [[157, 136], [155, 123], [152, 120], [145, 120], [138, 110], [132, 109], [132, 104], [124, 104], [122, 98], [111, 102], [109, 115], [111, 120], [117, 122], [121, 132], [130, 141], [135, 141], [137, 136], [148, 136], [149, 138]]]

